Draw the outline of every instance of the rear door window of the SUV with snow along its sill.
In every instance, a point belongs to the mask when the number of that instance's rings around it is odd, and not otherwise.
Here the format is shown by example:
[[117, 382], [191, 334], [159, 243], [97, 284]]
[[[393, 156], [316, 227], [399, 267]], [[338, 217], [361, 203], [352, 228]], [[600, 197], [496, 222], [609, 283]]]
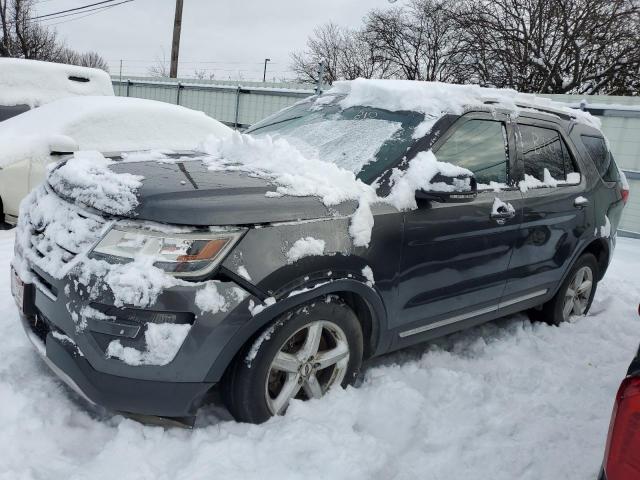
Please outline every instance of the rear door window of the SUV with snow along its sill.
[[520, 125], [524, 173], [540, 181], [548, 170], [554, 180], [580, 183], [580, 174], [560, 134], [551, 128]]

